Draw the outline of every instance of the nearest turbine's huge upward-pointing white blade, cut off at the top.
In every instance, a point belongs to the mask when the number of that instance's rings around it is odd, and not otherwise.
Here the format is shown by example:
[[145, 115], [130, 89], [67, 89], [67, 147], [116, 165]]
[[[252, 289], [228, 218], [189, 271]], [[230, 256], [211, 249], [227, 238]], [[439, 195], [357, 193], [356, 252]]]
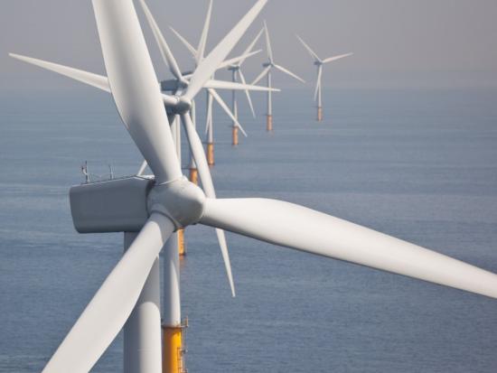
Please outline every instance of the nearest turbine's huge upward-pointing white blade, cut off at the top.
[[110, 89], [127, 131], [155, 182], [181, 178], [164, 97], [132, 0], [93, 0], [93, 8]]

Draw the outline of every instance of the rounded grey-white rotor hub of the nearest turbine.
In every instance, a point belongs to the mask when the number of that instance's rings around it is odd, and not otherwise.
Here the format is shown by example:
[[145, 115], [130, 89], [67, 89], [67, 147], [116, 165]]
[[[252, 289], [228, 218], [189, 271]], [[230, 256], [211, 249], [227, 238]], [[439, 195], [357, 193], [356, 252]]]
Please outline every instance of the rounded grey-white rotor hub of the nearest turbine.
[[148, 194], [148, 212], [171, 219], [177, 229], [196, 224], [203, 214], [205, 194], [185, 177], [156, 185]]

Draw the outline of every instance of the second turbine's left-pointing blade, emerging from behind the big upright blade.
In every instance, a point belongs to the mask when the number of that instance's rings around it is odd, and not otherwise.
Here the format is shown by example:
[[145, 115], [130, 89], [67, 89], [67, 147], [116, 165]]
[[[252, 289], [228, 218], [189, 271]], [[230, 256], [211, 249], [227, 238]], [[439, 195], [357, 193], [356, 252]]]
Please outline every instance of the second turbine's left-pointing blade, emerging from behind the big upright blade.
[[19, 54], [9, 53], [9, 56], [16, 60], [31, 63], [32, 65], [41, 67], [42, 69], [57, 72], [58, 74], [66, 76], [70, 79], [78, 80], [82, 83], [88, 84], [89, 86], [105, 90], [106, 92], [110, 92], [107, 77], [93, 74], [84, 70], [73, 69], [67, 66], [59, 65], [57, 63], [21, 56]]

